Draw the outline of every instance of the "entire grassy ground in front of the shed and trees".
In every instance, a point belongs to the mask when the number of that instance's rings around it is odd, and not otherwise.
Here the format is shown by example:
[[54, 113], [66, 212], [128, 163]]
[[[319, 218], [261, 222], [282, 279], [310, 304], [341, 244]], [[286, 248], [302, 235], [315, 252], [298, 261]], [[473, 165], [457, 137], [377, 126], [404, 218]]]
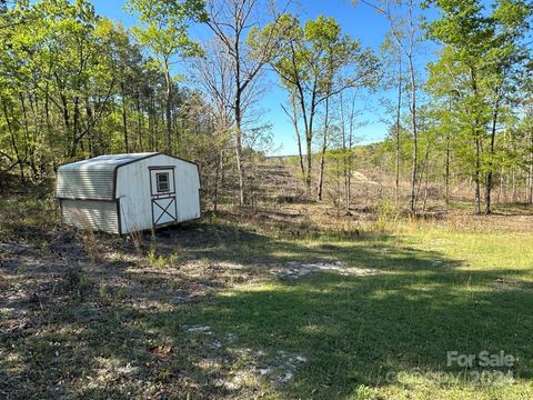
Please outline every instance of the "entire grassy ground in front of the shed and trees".
[[358, 237], [207, 218], [139, 249], [97, 236], [100, 261], [26, 224], [2, 224], [2, 398], [533, 397], [533, 236], [501, 219]]

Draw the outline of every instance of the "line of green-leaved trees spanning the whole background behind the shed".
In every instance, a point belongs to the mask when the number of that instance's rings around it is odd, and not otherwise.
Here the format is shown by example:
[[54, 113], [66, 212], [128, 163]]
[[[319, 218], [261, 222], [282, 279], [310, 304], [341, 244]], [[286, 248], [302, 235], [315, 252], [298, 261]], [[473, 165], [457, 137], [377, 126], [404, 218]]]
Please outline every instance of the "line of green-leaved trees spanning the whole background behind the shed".
[[[399, 203], [409, 181], [411, 212], [426, 208], [431, 186], [447, 204], [460, 182], [472, 188], [475, 212], [492, 212], [495, 189], [533, 202], [526, 1], [354, 2], [354, 20], [366, 7], [389, 24], [380, 51], [333, 18], [303, 21], [290, 0], [125, 7], [131, 29], [89, 0], [0, 1], [3, 188], [14, 174], [40, 183], [80, 158], [165, 151], [200, 162], [214, 208], [223, 187], [253, 202], [254, 160], [271, 146], [260, 100], [275, 76], [308, 196], [323, 200], [329, 186], [350, 209], [361, 103], [372, 96], [384, 98], [390, 127], [375, 156]], [[193, 26], [211, 39], [194, 40]]]

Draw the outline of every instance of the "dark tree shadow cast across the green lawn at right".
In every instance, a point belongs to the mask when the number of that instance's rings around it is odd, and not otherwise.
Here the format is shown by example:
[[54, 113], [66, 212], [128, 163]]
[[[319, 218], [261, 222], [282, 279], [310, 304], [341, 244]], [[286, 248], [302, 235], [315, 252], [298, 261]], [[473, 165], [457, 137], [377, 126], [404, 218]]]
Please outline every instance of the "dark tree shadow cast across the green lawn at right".
[[[295, 244], [289, 250], [298, 254]], [[519, 359], [516, 376], [532, 377], [531, 288], [499, 283], [523, 271], [464, 272], [456, 269], [459, 261], [436, 252], [389, 250], [361, 246], [335, 250], [335, 259], [381, 274], [322, 272], [221, 293], [189, 312], [182, 323], [212, 327], [219, 338], [234, 334], [238, 341], [222, 347], [218, 357], [252, 369], [279, 364], [280, 351], [303, 354], [309, 362], [294, 370], [294, 381], [275, 387], [281, 398], [348, 397], [360, 384], [391, 383], [384, 381], [388, 372], [446, 371], [446, 351], [454, 350], [465, 354], [504, 350]], [[330, 256], [322, 249], [299, 252], [304, 259]], [[162, 327], [175, 318], [154, 317]], [[252, 354], [248, 361], [235, 360], [239, 349]], [[274, 369], [274, 381], [275, 374], [286, 371]]]

